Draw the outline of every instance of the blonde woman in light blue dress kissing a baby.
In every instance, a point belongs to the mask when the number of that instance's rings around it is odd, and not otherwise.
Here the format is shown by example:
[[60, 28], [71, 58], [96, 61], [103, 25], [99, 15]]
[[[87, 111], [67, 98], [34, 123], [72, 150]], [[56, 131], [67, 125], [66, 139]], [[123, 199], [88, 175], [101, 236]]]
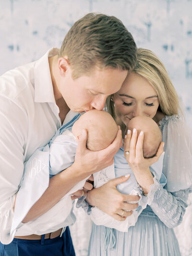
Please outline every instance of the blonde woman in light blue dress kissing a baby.
[[[167, 185], [163, 188], [149, 171], [150, 159], [144, 159], [142, 151], [144, 136], [137, 139], [137, 131], [128, 131], [124, 156], [143, 190], [139, 204], [150, 207], [128, 232], [93, 225], [90, 256], [180, 256], [173, 228], [181, 223], [192, 192], [192, 134], [179, 116], [179, 98], [164, 65], [150, 50], [138, 49], [137, 55], [133, 72], [108, 99], [107, 108], [123, 131], [135, 116], [156, 121], [165, 142], [163, 173]], [[88, 192], [87, 201], [99, 207], [94, 190]]]

